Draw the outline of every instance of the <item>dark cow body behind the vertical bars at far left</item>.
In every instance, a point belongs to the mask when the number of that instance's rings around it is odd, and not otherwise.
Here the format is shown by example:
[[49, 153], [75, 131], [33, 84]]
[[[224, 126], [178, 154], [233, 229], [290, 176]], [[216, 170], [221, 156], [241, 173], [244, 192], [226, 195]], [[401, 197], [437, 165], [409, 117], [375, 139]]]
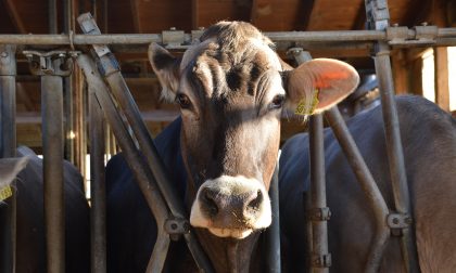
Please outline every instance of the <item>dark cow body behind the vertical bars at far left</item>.
[[[28, 158], [17, 174], [17, 255], [16, 272], [46, 272], [42, 160], [29, 148], [17, 148], [17, 155]], [[27, 160], [22, 159], [20, 167]], [[1, 162], [0, 162], [1, 165]], [[14, 168], [2, 168], [14, 178]], [[18, 170], [18, 169], [15, 169]], [[3, 177], [3, 176], [2, 176]], [[9, 181], [1, 181], [11, 183]], [[83, 178], [69, 162], [64, 162], [66, 271], [90, 272], [89, 206], [84, 195]], [[1, 186], [1, 183], [0, 183]], [[0, 204], [0, 214], [5, 209]]]

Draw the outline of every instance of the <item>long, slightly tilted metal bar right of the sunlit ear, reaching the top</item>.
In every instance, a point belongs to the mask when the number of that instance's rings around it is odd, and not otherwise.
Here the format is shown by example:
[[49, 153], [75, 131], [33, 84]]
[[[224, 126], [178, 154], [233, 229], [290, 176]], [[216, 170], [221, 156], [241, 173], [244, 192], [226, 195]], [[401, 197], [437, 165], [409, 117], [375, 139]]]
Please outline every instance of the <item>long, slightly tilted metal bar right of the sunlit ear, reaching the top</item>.
[[[388, 1], [365, 0], [365, 5], [368, 28], [372, 30], [388, 29], [390, 24]], [[440, 30], [438, 30], [438, 32], [440, 34]], [[410, 197], [405, 173], [397, 109], [394, 101], [394, 83], [390, 63], [390, 46], [388, 42], [378, 41], [376, 43], [373, 62], [379, 80], [394, 205], [398, 213], [409, 217], [411, 212]], [[413, 223], [409, 227], [402, 229], [401, 232], [401, 250], [405, 269], [407, 272], [419, 272]]]

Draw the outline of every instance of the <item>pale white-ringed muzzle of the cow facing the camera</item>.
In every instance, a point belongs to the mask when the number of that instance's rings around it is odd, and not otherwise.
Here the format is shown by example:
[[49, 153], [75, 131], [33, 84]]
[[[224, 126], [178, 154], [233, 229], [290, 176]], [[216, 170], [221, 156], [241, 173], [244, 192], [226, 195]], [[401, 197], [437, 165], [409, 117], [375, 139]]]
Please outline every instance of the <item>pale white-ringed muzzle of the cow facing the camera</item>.
[[223, 176], [204, 182], [190, 214], [193, 226], [208, 229], [219, 237], [244, 238], [269, 226], [270, 202], [256, 179]]

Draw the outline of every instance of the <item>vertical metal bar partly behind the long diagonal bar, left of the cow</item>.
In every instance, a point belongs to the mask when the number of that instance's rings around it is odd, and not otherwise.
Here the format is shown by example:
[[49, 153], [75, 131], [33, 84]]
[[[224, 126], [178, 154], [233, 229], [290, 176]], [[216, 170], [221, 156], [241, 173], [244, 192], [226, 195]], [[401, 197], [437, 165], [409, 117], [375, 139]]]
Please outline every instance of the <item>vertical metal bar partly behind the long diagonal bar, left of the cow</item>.
[[106, 272], [106, 184], [104, 177], [104, 118], [93, 90], [89, 93], [91, 272]]

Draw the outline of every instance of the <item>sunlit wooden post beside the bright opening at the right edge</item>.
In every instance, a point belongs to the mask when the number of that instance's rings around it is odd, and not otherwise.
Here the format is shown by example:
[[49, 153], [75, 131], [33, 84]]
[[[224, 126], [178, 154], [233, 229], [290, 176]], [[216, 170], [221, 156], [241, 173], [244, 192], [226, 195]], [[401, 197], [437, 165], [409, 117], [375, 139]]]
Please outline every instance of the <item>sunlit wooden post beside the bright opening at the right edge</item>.
[[446, 47], [434, 48], [435, 103], [449, 110], [448, 51]]

